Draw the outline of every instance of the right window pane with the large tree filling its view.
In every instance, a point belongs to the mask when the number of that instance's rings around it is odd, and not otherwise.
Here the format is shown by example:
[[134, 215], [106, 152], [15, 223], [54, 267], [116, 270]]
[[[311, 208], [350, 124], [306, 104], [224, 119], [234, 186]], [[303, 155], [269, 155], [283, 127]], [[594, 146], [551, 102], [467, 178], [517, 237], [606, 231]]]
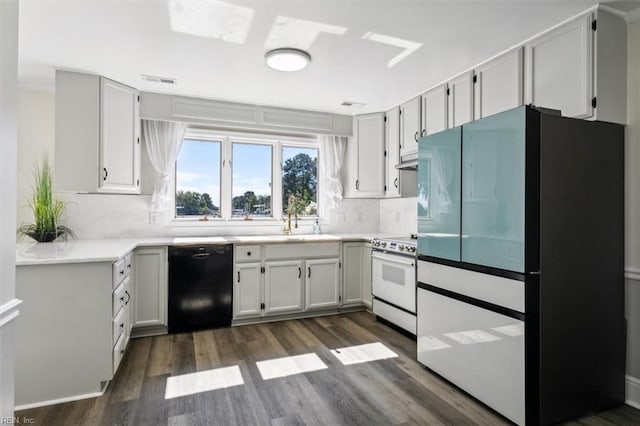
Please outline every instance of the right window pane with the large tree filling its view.
[[[293, 196], [293, 198], [291, 198]], [[299, 216], [318, 215], [318, 149], [282, 147], [282, 209], [289, 201]]]

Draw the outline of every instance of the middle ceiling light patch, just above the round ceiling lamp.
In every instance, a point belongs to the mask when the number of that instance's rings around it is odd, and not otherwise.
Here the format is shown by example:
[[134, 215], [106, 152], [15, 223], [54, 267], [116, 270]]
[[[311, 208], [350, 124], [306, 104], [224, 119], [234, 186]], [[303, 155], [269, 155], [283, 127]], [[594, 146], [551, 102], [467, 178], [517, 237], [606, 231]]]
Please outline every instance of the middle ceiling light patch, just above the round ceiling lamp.
[[307, 50], [322, 33], [344, 35], [347, 29], [321, 22], [278, 16], [264, 44], [267, 49], [294, 47]]

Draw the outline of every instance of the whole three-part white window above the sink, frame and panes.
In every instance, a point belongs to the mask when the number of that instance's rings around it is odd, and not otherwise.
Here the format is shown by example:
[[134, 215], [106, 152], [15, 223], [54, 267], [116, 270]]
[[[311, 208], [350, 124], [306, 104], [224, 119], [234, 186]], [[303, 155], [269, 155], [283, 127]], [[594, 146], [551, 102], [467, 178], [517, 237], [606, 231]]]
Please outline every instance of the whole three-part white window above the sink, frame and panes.
[[192, 129], [176, 160], [175, 217], [279, 221], [290, 210], [317, 217], [318, 161], [315, 138]]

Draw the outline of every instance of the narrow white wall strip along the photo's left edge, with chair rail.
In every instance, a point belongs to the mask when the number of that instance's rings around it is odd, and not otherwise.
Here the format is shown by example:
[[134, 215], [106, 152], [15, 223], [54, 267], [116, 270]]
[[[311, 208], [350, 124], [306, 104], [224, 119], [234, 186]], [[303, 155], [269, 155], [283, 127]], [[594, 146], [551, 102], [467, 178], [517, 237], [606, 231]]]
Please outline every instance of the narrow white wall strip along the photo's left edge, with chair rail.
[[18, 3], [0, 1], [0, 423], [13, 416]]

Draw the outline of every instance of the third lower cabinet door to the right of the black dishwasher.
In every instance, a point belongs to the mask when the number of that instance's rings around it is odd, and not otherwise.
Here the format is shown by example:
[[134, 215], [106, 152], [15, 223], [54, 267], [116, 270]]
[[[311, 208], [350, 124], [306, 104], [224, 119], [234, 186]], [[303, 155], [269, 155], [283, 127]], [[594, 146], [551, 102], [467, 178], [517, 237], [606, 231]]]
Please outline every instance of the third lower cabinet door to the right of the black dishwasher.
[[306, 309], [334, 308], [340, 304], [340, 259], [311, 259], [306, 268]]

